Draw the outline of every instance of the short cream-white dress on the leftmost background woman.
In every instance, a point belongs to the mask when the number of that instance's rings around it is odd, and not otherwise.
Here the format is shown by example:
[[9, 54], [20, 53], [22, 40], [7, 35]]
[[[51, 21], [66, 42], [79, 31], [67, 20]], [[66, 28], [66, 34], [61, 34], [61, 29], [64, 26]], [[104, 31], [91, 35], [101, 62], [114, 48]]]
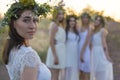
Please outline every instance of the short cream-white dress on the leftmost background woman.
[[65, 30], [62, 27], [58, 26], [58, 31], [55, 34], [55, 49], [59, 60], [59, 64], [57, 65], [54, 64], [53, 52], [51, 50], [51, 47], [49, 47], [47, 59], [46, 59], [46, 65], [49, 68], [53, 68], [53, 69], [65, 68], [65, 55], [66, 55], [65, 40], [66, 40]]

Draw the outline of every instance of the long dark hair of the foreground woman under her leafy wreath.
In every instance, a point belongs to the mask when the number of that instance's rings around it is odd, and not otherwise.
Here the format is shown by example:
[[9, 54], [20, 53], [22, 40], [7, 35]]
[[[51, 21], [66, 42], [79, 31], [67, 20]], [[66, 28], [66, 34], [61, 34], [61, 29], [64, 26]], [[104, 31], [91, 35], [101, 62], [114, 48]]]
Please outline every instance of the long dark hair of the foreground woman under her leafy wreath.
[[[13, 4], [13, 5], [15, 5], [15, 4]], [[21, 14], [25, 10], [30, 10], [30, 9], [25, 8], [25, 9], [17, 10], [15, 13], [17, 17], [11, 16], [11, 20], [8, 24], [9, 25], [9, 32], [8, 32], [9, 38], [6, 40], [6, 44], [5, 44], [4, 50], [3, 50], [3, 62], [5, 64], [8, 64], [8, 62], [9, 62], [9, 54], [10, 54], [11, 49], [13, 49], [13, 48], [19, 49], [21, 47], [21, 45], [25, 44], [25, 39], [23, 37], [21, 37], [17, 33], [16, 29], [14, 28], [14, 21], [19, 19]]]

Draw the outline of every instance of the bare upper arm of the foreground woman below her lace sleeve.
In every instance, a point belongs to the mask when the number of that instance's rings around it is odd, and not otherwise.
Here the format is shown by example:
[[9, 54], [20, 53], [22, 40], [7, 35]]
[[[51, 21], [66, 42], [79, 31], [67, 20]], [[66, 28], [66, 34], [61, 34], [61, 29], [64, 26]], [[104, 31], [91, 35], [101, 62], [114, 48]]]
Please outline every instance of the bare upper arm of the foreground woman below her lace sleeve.
[[37, 80], [37, 73], [37, 67], [25, 66], [20, 80]]

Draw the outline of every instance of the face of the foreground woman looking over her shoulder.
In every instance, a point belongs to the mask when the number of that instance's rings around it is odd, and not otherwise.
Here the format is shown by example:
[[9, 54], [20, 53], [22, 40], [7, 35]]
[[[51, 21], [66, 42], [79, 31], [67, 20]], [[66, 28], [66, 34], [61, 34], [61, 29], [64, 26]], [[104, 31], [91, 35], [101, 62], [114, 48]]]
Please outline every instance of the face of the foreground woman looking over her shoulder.
[[14, 28], [24, 39], [32, 39], [37, 29], [37, 17], [30, 10], [25, 10], [19, 19], [14, 21]]

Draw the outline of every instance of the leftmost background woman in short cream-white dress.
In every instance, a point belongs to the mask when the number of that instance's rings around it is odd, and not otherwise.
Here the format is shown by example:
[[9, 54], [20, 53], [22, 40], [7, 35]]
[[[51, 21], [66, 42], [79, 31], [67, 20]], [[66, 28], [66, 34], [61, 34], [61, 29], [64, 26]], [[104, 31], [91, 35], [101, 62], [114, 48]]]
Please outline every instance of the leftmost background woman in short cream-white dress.
[[65, 69], [66, 34], [64, 25], [64, 10], [57, 7], [53, 12], [53, 21], [50, 25], [50, 47], [46, 60], [46, 64], [52, 72], [52, 80], [58, 80], [60, 72]]

